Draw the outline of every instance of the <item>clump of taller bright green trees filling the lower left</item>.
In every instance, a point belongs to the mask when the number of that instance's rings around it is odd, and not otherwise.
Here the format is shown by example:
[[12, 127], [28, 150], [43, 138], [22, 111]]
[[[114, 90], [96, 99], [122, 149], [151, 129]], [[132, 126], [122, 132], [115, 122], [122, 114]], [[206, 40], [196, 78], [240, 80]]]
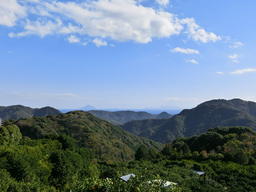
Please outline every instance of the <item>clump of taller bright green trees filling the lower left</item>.
[[0, 146], [0, 175], [3, 175], [0, 183], [4, 183], [2, 185], [8, 188], [7, 191], [19, 191], [18, 186], [26, 183], [30, 190], [50, 186], [64, 189], [78, 178], [98, 173], [93, 152], [78, 148], [74, 140], [66, 135], [55, 140], [21, 141], [19, 128], [15, 125], [0, 127], [0, 135], [3, 133], [9, 137], [4, 136]]

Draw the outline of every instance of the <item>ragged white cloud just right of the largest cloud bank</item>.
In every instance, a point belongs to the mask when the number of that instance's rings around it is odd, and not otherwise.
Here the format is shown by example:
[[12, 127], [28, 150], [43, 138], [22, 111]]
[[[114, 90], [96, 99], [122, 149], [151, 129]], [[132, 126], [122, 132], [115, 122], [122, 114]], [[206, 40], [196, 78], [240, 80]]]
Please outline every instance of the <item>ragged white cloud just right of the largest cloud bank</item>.
[[201, 41], [204, 43], [209, 41], [216, 42], [218, 40], [221, 40], [220, 36], [217, 36], [212, 32], [206, 32], [204, 29], [198, 26], [195, 23], [194, 18], [182, 19], [180, 20], [180, 22], [182, 24], [187, 24], [187, 31], [185, 33], [188, 34], [188, 38], [192, 38], [195, 41]]

